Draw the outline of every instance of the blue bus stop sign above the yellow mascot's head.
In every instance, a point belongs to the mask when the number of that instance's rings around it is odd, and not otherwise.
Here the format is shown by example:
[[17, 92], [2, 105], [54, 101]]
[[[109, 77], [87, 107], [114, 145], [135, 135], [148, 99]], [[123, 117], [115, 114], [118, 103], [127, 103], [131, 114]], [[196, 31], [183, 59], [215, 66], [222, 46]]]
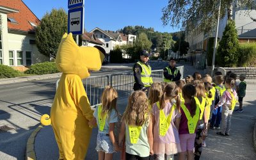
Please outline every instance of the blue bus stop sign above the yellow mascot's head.
[[81, 35], [84, 31], [84, 0], [68, 0], [68, 33]]

